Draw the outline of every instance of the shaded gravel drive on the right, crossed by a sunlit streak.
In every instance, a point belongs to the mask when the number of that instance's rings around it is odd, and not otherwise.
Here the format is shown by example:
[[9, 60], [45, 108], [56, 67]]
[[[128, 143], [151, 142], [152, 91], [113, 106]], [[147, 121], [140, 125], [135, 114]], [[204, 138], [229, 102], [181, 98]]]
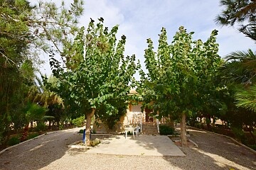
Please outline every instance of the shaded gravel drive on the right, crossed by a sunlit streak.
[[196, 129], [189, 133], [198, 148], [181, 147], [186, 157], [164, 157], [170, 164], [180, 169], [256, 169], [256, 155], [227, 137]]

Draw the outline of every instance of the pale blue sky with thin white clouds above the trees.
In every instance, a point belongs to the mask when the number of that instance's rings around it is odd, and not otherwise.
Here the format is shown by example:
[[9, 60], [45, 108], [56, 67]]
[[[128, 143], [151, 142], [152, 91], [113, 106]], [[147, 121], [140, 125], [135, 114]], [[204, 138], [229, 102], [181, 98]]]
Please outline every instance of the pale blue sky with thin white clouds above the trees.
[[[57, 1], [57, 0], [53, 0]], [[70, 0], [65, 0], [70, 3]], [[169, 42], [179, 26], [188, 32], [195, 32], [193, 39], [206, 41], [212, 30], [218, 30], [219, 55], [224, 57], [237, 50], [255, 50], [255, 43], [239, 33], [234, 27], [220, 27], [214, 22], [220, 13], [219, 0], [85, 0], [84, 15], [80, 25], [87, 27], [90, 18], [105, 19], [105, 26], [119, 25], [117, 39], [126, 35], [125, 55], [135, 54], [144, 65], [146, 39], [151, 38], [154, 47], [158, 46], [158, 35], [166, 28]], [[41, 69], [50, 73], [48, 62]]]

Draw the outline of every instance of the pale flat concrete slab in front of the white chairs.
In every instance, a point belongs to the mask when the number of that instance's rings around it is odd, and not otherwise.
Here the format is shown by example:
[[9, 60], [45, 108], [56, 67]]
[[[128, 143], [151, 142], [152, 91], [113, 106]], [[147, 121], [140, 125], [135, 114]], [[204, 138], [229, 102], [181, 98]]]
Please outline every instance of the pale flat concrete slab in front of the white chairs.
[[169, 137], [162, 135], [139, 135], [133, 139], [116, 135], [103, 140], [100, 145], [87, 150], [90, 154], [186, 156]]

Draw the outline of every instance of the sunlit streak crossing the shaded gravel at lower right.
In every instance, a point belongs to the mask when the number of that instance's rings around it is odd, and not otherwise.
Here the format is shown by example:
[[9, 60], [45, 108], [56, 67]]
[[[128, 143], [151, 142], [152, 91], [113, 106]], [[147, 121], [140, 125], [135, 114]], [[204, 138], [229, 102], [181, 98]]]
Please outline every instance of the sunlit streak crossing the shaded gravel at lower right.
[[225, 159], [224, 157], [220, 157], [218, 154], [210, 154], [208, 152], [203, 152], [202, 150], [197, 149], [197, 148], [193, 148], [193, 149], [195, 149], [197, 152], [200, 152], [201, 154], [205, 154], [206, 156], [214, 159], [215, 164], [217, 164], [220, 167], [233, 166], [237, 169], [250, 170], [250, 169], [247, 169], [245, 166], [241, 166], [240, 164], [236, 164], [235, 162]]

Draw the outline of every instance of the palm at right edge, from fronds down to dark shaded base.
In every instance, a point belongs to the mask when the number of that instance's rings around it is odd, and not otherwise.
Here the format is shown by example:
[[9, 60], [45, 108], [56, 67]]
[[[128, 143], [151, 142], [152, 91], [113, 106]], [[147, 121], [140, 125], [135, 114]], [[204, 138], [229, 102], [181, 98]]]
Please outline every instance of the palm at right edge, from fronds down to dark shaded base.
[[[242, 111], [239, 121], [249, 130], [252, 138], [256, 122], [256, 52], [252, 50], [232, 52], [226, 57], [224, 75], [230, 83], [235, 84], [235, 106]], [[228, 76], [227, 76], [228, 75]], [[241, 110], [242, 109], [242, 110]]]

